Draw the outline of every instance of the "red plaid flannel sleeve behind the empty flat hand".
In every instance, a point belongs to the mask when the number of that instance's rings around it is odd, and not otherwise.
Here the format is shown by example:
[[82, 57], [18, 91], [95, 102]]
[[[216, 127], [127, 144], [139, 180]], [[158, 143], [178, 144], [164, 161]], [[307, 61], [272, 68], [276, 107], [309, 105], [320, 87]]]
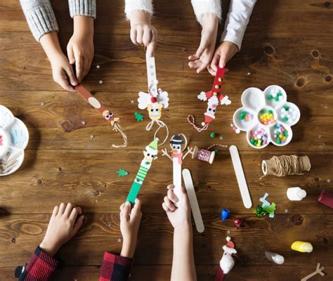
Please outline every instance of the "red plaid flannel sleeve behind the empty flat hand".
[[37, 247], [34, 255], [20, 275], [19, 281], [48, 281], [58, 266], [56, 259], [48, 256], [45, 251]]

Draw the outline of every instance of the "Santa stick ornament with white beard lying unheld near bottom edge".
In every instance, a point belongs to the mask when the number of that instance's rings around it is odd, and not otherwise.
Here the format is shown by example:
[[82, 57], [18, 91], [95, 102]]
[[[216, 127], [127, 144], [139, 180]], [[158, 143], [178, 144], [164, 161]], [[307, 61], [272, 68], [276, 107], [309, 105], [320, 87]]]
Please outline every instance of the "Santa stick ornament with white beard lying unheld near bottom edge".
[[235, 266], [235, 260], [233, 259], [233, 254], [236, 254], [235, 244], [231, 241], [231, 238], [226, 237], [227, 243], [222, 247], [223, 256], [220, 261], [220, 266], [217, 269], [214, 281], [223, 281], [224, 276], [233, 269]]

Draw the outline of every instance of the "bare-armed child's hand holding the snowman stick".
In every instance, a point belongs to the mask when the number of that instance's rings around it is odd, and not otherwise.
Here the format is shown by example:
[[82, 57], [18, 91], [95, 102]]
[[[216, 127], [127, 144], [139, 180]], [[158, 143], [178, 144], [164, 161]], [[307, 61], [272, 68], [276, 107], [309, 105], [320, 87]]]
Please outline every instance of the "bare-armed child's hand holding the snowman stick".
[[166, 215], [174, 228], [185, 226], [191, 222], [190, 202], [185, 188], [181, 189], [181, 202], [178, 207], [174, 203], [178, 202], [178, 198], [174, 194], [174, 185], [168, 185], [167, 196], [164, 197], [162, 207], [166, 211]]

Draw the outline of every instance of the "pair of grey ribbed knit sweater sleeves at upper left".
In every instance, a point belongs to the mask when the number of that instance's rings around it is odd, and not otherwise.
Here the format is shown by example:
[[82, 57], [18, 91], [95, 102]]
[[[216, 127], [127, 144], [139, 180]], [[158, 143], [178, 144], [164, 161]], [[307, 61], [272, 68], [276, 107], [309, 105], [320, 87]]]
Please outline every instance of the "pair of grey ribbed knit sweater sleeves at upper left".
[[[50, 0], [20, 0], [23, 13], [34, 38], [39, 41], [48, 33], [58, 32], [58, 23]], [[68, 0], [70, 16], [86, 15], [96, 18], [96, 0]]]

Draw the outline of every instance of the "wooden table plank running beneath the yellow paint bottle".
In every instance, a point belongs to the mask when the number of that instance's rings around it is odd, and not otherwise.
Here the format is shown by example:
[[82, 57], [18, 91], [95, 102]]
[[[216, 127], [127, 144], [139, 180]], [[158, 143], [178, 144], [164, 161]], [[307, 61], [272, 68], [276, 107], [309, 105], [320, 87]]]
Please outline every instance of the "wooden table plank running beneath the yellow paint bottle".
[[[165, 214], [145, 214], [138, 235], [136, 265], [171, 264], [172, 227]], [[87, 222], [59, 251], [63, 264], [70, 266], [100, 265], [103, 251], [119, 252], [119, 214], [86, 214]], [[50, 215], [1, 215], [1, 267], [25, 264], [44, 236]], [[333, 238], [333, 216], [328, 214], [281, 214], [274, 219], [247, 216], [244, 227], [236, 230], [231, 220], [221, 221], [216, 214], [204, 214], [205, 232], [194, 233], [195, 259], [199, 265], [217, 264], [226, 231], [237, 248], [237, 257], [245, 265], [269, 265], [263, 252], [270, 249], [285, 256], [285, 265], [306, 266], [321, 261], [333, 265], [329, 241]], [[111, 223], [111, 224], [110, 224]], [[110, 226], [111, 225], [111, 226]], [[152, 233], [154, 235], [152, 236]], [[314, 250], [302, 254], [290, 249], [295, 240], [309, 241]], [[259, 243], [260, 241], [260, 243]], [[149, 251], [147, 251], [149, 249]], [[11, 253], [8, 255], [8, 253]]]

